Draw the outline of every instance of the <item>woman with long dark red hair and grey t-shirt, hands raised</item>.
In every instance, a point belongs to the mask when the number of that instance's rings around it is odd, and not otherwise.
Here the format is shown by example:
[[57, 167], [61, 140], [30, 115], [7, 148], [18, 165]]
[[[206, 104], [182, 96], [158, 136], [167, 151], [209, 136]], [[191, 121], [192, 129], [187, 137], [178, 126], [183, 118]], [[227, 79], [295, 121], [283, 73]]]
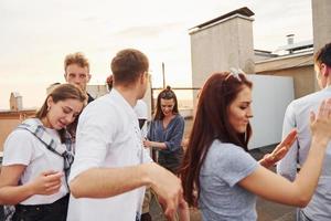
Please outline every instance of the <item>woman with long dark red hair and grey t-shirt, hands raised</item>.
[[265, 167], [284, 157], [296, 130], [257, 162], [247, 152], [250, 104], [252, 83], [242, 72], [214, 74], [202, 88], [181, 179], [185, 200], [199, 204], [203, 220], [253, 221], [255, 196], [305, 207], [313, 194], [331, 138], [331, 99], [311, 114], [310, 152], [293, 182]]

